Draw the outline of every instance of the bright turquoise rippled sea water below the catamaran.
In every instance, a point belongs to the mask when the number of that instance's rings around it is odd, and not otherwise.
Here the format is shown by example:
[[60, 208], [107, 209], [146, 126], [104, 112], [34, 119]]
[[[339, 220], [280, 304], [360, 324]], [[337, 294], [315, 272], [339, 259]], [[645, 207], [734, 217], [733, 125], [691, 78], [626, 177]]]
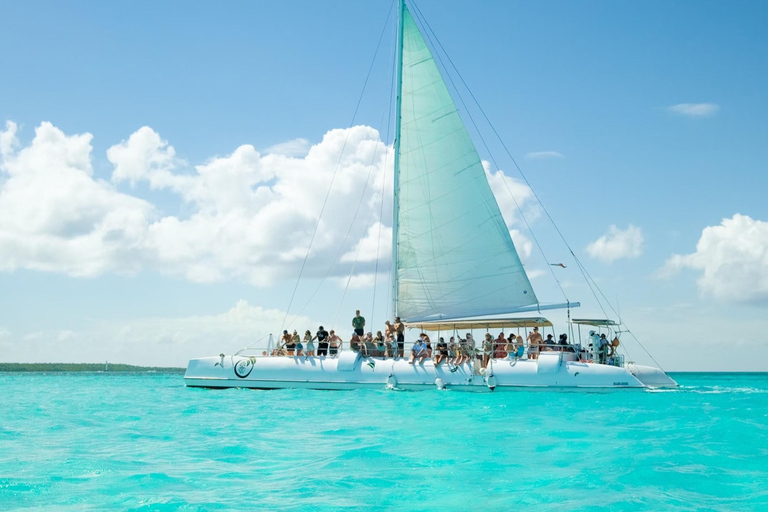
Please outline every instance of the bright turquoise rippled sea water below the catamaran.
[[0, 510], [768, 510], [768, 374], [675, 391], [0, 374]]

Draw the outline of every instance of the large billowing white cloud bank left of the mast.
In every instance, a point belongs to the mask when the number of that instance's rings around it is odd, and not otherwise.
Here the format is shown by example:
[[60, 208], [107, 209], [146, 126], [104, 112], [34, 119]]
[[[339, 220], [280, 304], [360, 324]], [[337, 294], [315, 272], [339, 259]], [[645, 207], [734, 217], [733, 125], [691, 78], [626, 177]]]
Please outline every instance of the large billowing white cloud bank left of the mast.
[[[378, 225], [379, 190], [391, 204], [391, 172], [382, 183], [391, 148], [365, 126], [331, 130], [303, 158], [261, 155], [243, 145], [192, 169], [143, 127], [107, 151], [112, 183], [93, 177], [91, 140], [90, 134], [67, 136], [42, 123], [34, 140], [17, 151], [16, 126], [8, 123], [0, 133], [0, 171], [7, 175], [0, 181], [0, 269], [71, 276], [156, 269], [196, 282], [269, 285], [298, 272], [332, 179], [308, 276], [324, 275], [340, 246], [353, 247], [354, 240], [342, 244], [353, 221], [349, 205], [364, 189], [368, 200], [353, 232], [364, 231], [367, 219]], [[120, 191], [124, 182], [174, 193], [190, 213], [163, 215]], [[387, 218], [391, 207], [384, 210]], [[335, 275], [348, 271], [342, 265]]]

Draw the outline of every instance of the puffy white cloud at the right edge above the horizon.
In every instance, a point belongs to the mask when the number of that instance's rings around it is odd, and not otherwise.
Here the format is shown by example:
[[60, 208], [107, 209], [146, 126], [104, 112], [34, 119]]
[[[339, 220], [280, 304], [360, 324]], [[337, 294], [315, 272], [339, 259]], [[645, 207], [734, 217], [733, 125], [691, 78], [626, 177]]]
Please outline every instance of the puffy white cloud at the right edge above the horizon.
[[768, 300], [768, 222], [736, 214], [719, 226], [707, 226], [696, 252], [673, 255], [659, 275], [685, 268], [702, 273], [698, 286], [704, 295], [737, 302]]

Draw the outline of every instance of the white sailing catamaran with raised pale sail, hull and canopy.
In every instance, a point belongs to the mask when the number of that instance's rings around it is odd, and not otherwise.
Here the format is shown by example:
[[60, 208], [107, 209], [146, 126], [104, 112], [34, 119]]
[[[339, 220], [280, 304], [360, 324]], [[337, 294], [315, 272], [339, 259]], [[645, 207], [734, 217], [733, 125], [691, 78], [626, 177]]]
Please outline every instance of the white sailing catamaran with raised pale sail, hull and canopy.
[[[574, 326], [589, 326], [594, 342], [542, 344], [528, 357], [522, 349], [502, 354], [480, 350], [460, 364], [436, 365], [431, 358], [411, 363], [398, 354], [384, 357], [365, 344], [357, 350], [342, 347], [334, 355], [274, 355], [270, 335], [268, 350], [190, 360], [185, 384], [469, 391], [676, 386], [660, 368], [625, 361], [617, 351], [619, 324], [571, 319], [578, 302], [539, 302], [432, 50], [405, 0], [398, 1], [398, 11], [393, 316], [409, 329], [437, 336], [461, 337], [476, 330], [527, 334], [528, 329], [553, 328], [552, 323], [517, 315], [561, 308], [568, 310], [570, 332]], [[600, 332], [612, 341], [609, 354], [601, 352]]]

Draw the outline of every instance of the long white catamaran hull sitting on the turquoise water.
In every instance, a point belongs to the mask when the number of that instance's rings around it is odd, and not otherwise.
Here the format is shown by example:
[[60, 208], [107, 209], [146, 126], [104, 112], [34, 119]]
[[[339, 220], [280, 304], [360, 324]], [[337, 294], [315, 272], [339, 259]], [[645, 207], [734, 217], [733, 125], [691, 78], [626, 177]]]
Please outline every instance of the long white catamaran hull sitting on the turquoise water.
[[[331, 357], [243, 357], [225, 356], [192, 359], [184, 375], [190, 387], [206, 388], [308, 388], [358, 389], [447, 388], [466, 391], [498, 391], [525, 388], [644, 388], [676, 386], [662, 381], [654, 368], [625, 368], [566, 361], [560, 353], [541, 354], [537, 360], [495, 359], [482, 372], [475, 365], [455, 366], [432, 360], [409, 364], [407, 359], [378, 359], [344, 352]], [[484, 375], [482, 374], [484, 373]], [[651, 381], [644, 382], [643, 376]], [[637, 375], [637, 376], [636, 376]]]

